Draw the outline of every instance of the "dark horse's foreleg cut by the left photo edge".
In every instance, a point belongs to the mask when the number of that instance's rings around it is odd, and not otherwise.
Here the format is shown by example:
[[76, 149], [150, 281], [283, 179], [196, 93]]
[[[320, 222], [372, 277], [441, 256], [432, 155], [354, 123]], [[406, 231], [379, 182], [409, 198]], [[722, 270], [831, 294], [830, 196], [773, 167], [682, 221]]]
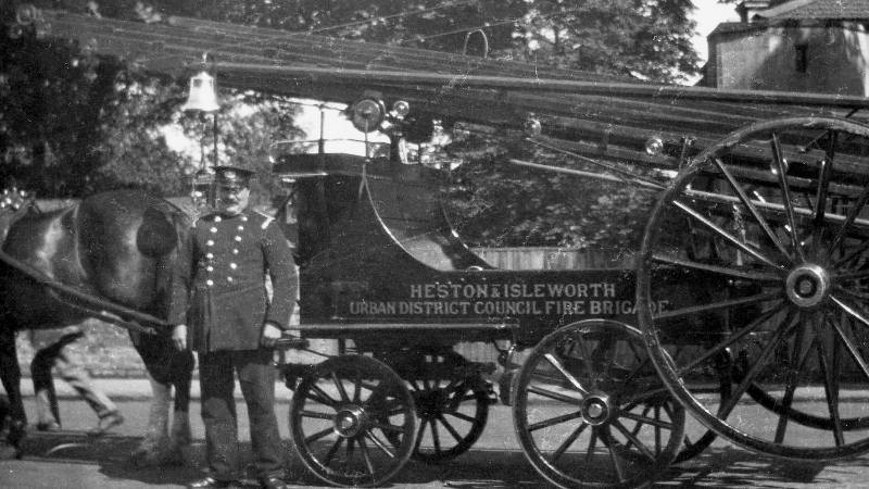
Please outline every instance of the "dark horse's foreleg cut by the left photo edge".
[[0, 380], [9, 397], [9, 435], [0, 446], [0, 460], [21, 456], [21, 440], [27, 427], [27, 415], [21, 398], [21, 368], [15, 354], [15, 331], [7, 328], [0, 331]]

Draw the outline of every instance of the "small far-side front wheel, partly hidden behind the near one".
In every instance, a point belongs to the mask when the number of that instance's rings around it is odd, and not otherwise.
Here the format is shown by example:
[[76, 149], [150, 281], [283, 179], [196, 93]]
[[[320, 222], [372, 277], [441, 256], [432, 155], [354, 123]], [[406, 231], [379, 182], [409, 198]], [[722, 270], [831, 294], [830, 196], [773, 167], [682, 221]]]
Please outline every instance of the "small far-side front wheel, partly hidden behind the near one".
[[419, 417], [413, 457], [425, 463], [454, 459], [480, 438], [489, 417], [489, 392], [479, 374], [466, 373], [454, 352], [424, 355], [408, 379]]

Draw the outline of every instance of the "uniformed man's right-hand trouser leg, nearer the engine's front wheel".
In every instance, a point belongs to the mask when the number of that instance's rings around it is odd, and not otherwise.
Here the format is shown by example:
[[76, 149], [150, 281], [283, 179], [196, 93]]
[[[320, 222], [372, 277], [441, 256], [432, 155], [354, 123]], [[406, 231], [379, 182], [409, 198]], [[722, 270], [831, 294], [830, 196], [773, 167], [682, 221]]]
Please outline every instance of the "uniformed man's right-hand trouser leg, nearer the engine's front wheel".
[[251, 444], [261, 479], [284, 477], [284, 451], [275, 416], [275, 366], [267, 350], [235, 352], [241, 392], [248, 405]]

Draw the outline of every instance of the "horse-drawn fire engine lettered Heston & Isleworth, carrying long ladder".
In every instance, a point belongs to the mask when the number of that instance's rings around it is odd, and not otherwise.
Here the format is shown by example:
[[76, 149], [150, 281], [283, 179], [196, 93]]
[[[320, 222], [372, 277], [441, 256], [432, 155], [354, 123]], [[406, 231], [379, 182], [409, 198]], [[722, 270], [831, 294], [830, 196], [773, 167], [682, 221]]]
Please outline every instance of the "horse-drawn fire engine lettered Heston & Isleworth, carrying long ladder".
[[[862, 98], [541, 73], [186, 18], [42, 15], [48, 35], [147, 70], [177, 74], [207, 50], [225, 86], [356, 100], [357, 127], [391, 120], [394, 143], [418, 111], [597, 171], [515, 164], [657, 192], [631, 264], [505, 271], [451, 226], [443, 172], [396, 151], [277, 154], [298, 198], [300, 330], [344, 346], [314, 365], [290, 351], [280, 366], [293, 443], [320, 479], [377, 486], [412, 457], [469, 450], [492, 402], [490, 366], [454, 348], [469, 341], [496, 344], [515, 371], [502, 397], [521, 450], [558, 486], [646, 484], [715, 435], [792, 460], [869, 449], [869, 406], [854, 401], [869, 386]], [[341, 67], [313, 66], [312, 52]], [[360, 100], [363, 88], [379, 95]], [[709, 432], [687, 438], [688, 416]]]

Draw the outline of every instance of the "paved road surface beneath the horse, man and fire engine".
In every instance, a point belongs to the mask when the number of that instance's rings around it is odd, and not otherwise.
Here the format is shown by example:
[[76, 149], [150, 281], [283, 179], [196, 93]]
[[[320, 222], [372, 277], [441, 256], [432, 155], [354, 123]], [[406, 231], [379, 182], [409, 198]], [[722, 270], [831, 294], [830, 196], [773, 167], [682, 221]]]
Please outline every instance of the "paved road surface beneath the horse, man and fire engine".
[[[189, 463], [179, 467], [136, 468], [127, 463], [127, 455], [135, 450], [144, 429], [148, 384], [133, 380], [100, 383], [115, 399], [125, 399], [119, 402], [119, 408], [127, 422], [113, 435], [99, 440], [89, 439], [84, 431], [96, 421], [92, 412], [80, 400], [64, 399], [61, 411], [66, 431], [51, 435], [33, 432], [24, 444], [23, 460], [0, 462], [1, 488], [178, 488], [200, 476], [203, 429], [197, 402], [191, 408], [196, 442]], [[278, 402], [277, 413], [281, 436], [287, 439], [289, 392], [282, 387], [278, 392], [285, 394]], [[28, 413], [34, 412], [29, 398], [26, 408]], [[240, 432], [247, 439], [247, 414], [242, 404], [239, 404], [239, 418]], [[544, 487], [518, 449], [509, 408], [494, 406], [489, 419], [486, 432], [469, 453], [441, 466], [410, 462], [392, 480], [391, 487]], [[700, 428], [694, 425], [690, 429]], [[289, 447], [287, 453], [293, 487], [324, 487], [306, 474], [291, 455]], [[794, 464], [758, 456], [717, 441], [698, 459], [672, 467], [656, 487], [862, 488], [867, 480], [869, 456], [837, 464]]]

